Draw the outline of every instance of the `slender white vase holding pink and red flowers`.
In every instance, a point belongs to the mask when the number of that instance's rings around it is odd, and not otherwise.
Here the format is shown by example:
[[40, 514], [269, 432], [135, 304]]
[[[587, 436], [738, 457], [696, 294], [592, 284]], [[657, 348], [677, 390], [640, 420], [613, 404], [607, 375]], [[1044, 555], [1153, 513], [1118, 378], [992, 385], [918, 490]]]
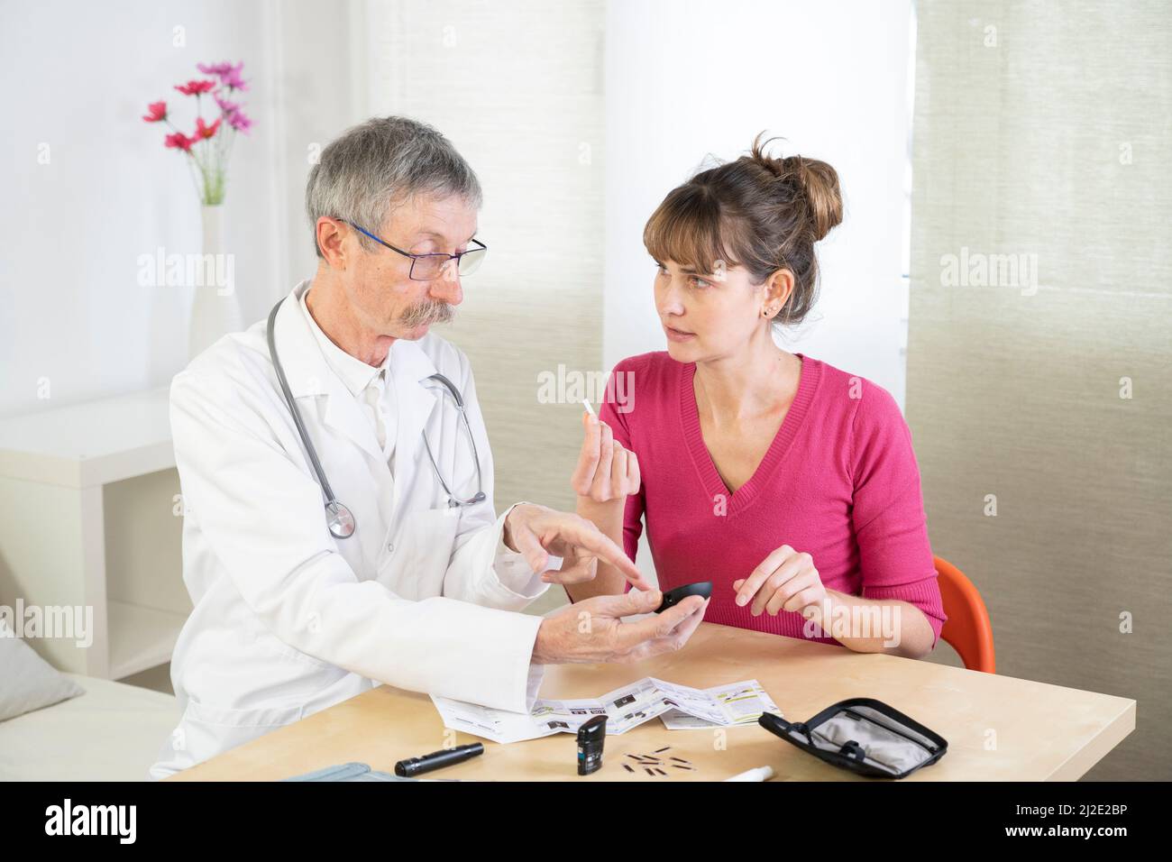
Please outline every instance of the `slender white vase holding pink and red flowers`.
[[230, 332], [244, 328], [240, 300], [236, 294], [236, 256], [224, 246], [220, 205], [200, 208], [204, 249], [197, 265], [188, 267], [193, 283], [188, 358], [213, 345]]

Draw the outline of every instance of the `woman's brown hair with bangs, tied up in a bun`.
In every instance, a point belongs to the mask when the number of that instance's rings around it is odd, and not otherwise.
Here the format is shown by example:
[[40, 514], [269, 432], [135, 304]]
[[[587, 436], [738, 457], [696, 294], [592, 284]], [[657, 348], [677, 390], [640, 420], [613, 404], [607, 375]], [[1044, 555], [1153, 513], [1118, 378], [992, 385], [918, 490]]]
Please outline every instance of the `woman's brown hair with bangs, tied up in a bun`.
[[763, 135], [749, 155], [673, 189], [647, 220], [643, 245], [660, 263], [700, 273], [711, 273], [717, 260], [744, 266], [754, 284], [786, 269], [793, 292], [784, 323], [800, 323], [817, 293], [813, 244], [843, 220], [843, 197], [833, 168], [803, 156], [774, 158]]

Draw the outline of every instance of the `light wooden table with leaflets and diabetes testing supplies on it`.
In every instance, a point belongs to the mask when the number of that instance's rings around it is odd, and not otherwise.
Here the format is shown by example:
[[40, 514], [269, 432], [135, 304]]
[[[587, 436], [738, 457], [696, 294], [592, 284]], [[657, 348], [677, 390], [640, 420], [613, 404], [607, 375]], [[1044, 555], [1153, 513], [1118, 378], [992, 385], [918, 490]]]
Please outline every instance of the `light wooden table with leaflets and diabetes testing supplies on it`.
[[[708, 687], [761, 680], [791, 721], [852, 697], [872, 697], [907, 713], [948, 740], [948, 753], [907, 781], [1075, 780], [1136, 727], [1136, 701], [959, 667], [702, 623], [688, 645], [639, 665], [556, 665], [541, 697], [605, 694], [642, 677]], [[380, 686], [294, 725], [274, 731], [191, 769], [176, 781], [275, 780], [360, 761], [394, 772], [397, 760], [478, 741], [448, 731], [425, 694]], [[473, 781], [578, 779], [574, 735], [498, 745], [483, 755], [431, 773]], [[627, 753], [690, 761], [695, 772], [667, 778], [622, 768]], [[665, 756], [661, 755], [661, 756]], [[670, 762], [670, 761], [669, 761]], [[667, 731], [656, 718], [607, 737], [602, 768], [586, 781], [714, 781], [757, 766], [776, 780], [867, 780], [823, 763], [756, 725]], [[638, 769], [638, 768], [636, 768]]]

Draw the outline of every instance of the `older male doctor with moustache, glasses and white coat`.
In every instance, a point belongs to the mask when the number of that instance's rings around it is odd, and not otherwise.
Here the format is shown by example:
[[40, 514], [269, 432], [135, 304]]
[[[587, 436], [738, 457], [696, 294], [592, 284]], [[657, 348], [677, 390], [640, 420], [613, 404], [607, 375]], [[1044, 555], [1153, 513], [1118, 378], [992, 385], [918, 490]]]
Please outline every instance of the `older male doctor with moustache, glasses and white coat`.
[[[348, 130], [309, 175], [313, 279], [175, 378], [195, 610], [171, 665], [183, 715], [152, 778], [380, 683], [524, 711], [545, 664], [638, 660], [700, 624], [699, 598], [624, 622], [661, 596], [578, 516], [496, 517], [471, 368], [428, 332], [485, 254], [479, 203], [430, 127]], [[518, 612], [599, 558], [639, 589]]]

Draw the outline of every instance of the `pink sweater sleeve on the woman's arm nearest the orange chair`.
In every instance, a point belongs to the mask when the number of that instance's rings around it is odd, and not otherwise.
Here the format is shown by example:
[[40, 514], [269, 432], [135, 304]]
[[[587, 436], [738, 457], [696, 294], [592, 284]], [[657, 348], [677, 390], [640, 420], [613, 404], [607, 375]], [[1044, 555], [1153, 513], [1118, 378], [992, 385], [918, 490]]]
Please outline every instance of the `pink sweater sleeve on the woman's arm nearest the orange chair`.
[[947, 617], [928, 542], [920, 469], [912, 430], [899, 405], [866, 381], [851, 433], [852, 518], [859, 545], [863, 597], [919, 608], [932, 626], [932, 646]]

